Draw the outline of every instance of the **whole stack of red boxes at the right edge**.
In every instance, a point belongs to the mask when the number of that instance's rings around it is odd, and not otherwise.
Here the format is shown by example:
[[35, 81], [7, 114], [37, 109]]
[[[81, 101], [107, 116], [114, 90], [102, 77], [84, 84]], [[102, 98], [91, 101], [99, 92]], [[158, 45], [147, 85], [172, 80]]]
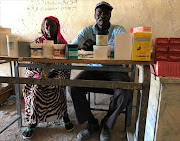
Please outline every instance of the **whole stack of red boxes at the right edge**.
[[152, 73], [180, 77], [180, 38], [157, 38], [154, 53], [156, 64], [151, 66]]

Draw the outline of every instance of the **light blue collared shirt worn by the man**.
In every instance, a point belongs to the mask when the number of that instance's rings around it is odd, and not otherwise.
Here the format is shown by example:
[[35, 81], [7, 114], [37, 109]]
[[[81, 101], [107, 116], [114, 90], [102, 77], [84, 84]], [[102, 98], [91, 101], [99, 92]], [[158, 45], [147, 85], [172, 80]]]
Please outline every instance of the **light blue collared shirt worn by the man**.
[[[80, 46], [84, 43], [87, 39], [92, 39], [96, 41], [96, 25], [89, 25], [84, 27], [77, 35], [77, 37], [72, 41], [71, 44], [78, 44]], [[108, 44], [111, 46], [115, 45], [115, 34], [116, 33], [124, 33], [126, 32], [125, 28], [119, 25], [112, 25], [108, 29]]]

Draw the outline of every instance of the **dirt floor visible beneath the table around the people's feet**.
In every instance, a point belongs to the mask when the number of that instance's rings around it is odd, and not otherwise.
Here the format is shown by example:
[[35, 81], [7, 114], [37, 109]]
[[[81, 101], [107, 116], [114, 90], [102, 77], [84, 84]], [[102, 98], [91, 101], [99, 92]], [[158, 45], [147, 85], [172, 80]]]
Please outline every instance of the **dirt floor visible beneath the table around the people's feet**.
[[[24, 117], [24, 102], [22, 100], [22, 117]], [[107, 107], [107, 105], [96, 105], [96, 107]], [[71, 102], [68, 102], [68, 113], [70, 119], [75, 124], [75, 129], [72, 132], [66, 132], [61, 120], [49, 123], [40, 123], [36, 128], [30, 141], [76, 141], [76, 135], [79, 131], [86, 127], [87, 123], [77, 125], [74, 116], [74, 109]], [[95, 117], [101, 121], [106, 112], [96, 111]], [[4, 127], [16, 116], [15, 98], [9, 100], [4, 105], [0, 106], [0, 128]], [[17, 122], [10, 126], [7, 130], [0, 134], [0, 141], [21, 141], [22, 132], [25, 130], [26, 124], [23, 121], [23, 127], [18, 127]], [[116, 125], [111, 130], [112, 141], [126, 141], [126, 133], [124, 132], [124, 114], [117, 119]], [[89, 141], [99, 141], [99, 133], [93, 135]]]

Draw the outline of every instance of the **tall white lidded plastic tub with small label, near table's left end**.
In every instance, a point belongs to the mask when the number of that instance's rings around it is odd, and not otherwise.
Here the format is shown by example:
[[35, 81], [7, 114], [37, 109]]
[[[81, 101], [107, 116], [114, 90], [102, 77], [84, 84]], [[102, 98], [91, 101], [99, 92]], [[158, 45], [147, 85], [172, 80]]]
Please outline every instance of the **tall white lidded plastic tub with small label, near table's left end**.
[[6, 35], [7, 37], [7, 50], [9, 57], [19, 57], [18, 54], [18, 39], [17, 35]]

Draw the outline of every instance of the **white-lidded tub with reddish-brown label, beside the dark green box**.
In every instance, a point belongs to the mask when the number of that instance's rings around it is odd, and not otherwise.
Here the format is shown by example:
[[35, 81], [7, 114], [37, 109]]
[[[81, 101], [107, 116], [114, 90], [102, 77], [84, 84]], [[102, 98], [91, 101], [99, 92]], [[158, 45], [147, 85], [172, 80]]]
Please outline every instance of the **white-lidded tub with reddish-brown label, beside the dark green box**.
[[65, 58], [65, 44], [54, 44], [54, 58]]

